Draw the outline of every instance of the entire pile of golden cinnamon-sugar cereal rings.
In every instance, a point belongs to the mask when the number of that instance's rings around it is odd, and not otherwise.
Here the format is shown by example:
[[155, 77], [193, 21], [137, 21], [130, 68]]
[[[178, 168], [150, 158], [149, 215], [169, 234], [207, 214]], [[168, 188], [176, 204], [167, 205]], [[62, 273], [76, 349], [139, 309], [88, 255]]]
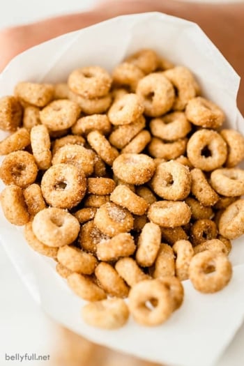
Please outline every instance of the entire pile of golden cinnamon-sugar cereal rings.
[[[86, 323], [156, 326], [231, 279], [244, 233], [244, 138], [188, 68], [142, 49], [67, 84], [20, 82], [0, 99], [6, 219], [52, 257]], [[128, 298], [128, 301], [123, 300]]]

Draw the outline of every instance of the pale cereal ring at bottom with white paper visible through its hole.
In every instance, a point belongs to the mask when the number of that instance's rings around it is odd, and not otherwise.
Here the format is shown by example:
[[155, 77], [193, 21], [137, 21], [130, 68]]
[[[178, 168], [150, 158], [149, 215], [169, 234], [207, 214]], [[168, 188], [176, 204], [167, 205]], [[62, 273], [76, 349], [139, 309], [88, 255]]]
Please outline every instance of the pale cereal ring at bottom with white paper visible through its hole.
[[[147, 303], [156, 300], [155, 307]], [[135, 284], [129, 293], [129, 310], [132, 317], [142, 326], [158, 326], [171, 315], [174, 301], [169, 289], [160, 280], [144, 280]]]

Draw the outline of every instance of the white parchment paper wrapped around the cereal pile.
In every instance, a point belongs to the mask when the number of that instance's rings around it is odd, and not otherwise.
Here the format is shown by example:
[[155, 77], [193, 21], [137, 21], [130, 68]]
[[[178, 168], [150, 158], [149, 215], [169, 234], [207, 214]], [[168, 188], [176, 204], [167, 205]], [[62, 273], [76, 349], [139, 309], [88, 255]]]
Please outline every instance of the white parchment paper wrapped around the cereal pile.
[[[15, 84], [23, 80], [65, 81], [77, 67], [98, 64], [112, 70], [125, 56], [143, 47], [188, 66], [204, 96], [224, 109], [226, 125], [244, 133], [243, 117], [236, 108], [238, 75], [196, 24], [160, 13], [117, 17], [29, 49], [1, 74], [0, 96], [13, 93]], [[6, 222], [2, 211], [0, 240], [33, 297], [52, 318], [93, 342], [140, 358], [172, 366], [215, 365], [243, 322], [244, 239], [234, 242], [234, 277], [223, 291], [203, 295], [185, 281], [183, 306], [167, 323], [144, 328], [130, 320], [116, 331], [94, 329], [82, 321], [84, 301], [55, 273], [52, 260], [26, 245], [22, 230]]]

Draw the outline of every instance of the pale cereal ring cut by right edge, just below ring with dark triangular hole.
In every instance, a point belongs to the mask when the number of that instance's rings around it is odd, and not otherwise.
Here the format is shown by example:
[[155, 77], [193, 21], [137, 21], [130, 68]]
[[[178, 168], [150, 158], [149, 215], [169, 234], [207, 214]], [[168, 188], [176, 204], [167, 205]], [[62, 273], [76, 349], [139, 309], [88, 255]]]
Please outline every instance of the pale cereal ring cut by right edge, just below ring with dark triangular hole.
[[222, 196], [244, 195], [244, 170], [238, 168], [216, 169], [211, 173], [211, 185]]

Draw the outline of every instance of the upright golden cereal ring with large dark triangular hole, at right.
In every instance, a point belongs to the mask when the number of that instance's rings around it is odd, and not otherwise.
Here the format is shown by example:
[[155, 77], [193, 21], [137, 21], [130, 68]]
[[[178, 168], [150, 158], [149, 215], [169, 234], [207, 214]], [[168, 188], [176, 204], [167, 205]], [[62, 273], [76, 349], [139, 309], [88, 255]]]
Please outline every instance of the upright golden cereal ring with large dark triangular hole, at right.
[[195, 168], [211, 171], [227, 160], [227, 144], [214, 130], [199, 130], [188, 141], [187, 154]]

